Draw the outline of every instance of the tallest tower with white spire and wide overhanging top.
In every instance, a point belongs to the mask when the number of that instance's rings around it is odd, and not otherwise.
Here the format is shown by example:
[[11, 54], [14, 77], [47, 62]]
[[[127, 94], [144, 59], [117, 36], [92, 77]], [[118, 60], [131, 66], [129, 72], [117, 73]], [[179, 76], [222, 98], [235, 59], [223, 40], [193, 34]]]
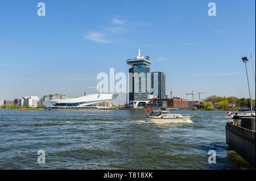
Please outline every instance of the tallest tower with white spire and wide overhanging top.
[[134, 107], [145, 106], [150, 102], [150, 66], [152, 61], [149, 57], [144, 58], [141, 56], [139, 49], [138, 56], [133, 60], [126, 60], [128, 65], [133, 66], [129, 69], [129, 73], [133, 75], [129, 77], [129, 103]]

